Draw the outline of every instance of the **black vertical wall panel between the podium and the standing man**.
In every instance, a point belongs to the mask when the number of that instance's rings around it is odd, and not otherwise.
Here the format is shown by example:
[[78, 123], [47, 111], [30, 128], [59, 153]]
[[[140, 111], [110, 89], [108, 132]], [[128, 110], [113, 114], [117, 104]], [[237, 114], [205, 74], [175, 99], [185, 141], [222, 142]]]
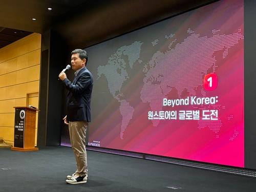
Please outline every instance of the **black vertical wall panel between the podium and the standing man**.
[[58, 74], [67, 66], [65, 57], [65, 42], [55, 32], [51, 32], [49, 60], [49, 94], [47, 118], [46, 145], [60, 144], [60, 127], [62, 126], [62, 82]]

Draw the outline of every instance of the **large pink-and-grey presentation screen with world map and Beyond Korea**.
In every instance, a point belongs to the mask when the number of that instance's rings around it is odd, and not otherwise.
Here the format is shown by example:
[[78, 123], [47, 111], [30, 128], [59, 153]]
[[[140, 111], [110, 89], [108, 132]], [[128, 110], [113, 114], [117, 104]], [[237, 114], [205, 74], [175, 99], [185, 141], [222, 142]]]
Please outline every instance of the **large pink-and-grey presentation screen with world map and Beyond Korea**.
[[87, 48], [88, 145], [244, 167], [244, 5], [218, 1]]

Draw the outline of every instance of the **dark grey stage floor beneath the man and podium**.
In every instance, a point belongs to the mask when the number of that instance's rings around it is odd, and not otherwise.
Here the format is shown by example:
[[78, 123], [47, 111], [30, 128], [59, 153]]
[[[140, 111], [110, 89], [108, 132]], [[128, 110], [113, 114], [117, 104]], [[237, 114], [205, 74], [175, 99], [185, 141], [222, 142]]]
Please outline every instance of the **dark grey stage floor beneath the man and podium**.
[[0, 191], [256, 191], [254, 178], [120, 155], [88, 151], [88, 164], [88, 183], [66, 184], [75, 170], [72, 148], [0, 148]]

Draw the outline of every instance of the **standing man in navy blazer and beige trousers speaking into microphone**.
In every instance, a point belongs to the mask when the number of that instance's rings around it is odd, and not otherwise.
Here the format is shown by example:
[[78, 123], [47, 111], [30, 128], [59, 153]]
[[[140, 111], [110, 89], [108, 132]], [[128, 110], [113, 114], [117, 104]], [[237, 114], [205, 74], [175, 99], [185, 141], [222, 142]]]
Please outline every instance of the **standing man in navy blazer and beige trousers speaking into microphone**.
[[75, 78], [71, 82], [65, 72], [59, 74], [59, 79], [69, 90], [67, 96], [67, 115], [63, 118], [69, 125], [70, 141], [76, 159], [76, 172], [67, 176], [67, 183], [86, 183], [88, 179], [86, 130], [91, 121], [91, 95], [93, 76], [86, 68], [88, 55], [81, 49], [71, 52], [71, 65]]

